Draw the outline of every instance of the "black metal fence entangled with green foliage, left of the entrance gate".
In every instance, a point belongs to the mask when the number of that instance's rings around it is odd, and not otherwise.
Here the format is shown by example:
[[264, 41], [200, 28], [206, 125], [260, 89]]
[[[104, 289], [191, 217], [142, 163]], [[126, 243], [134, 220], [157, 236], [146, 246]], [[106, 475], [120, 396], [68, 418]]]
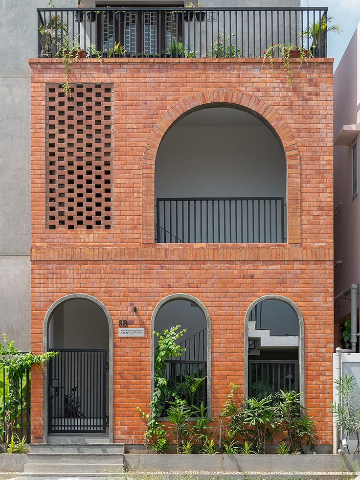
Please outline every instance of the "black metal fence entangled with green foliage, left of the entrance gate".
[[0, 442], [9, 441], [12, 434], [17, 434], [20, 438], [26, 436], [26, 442], [30, 443], [30, 369], [20, 379], [16, 397], [14, 410], [6, 369], [0, 370]]

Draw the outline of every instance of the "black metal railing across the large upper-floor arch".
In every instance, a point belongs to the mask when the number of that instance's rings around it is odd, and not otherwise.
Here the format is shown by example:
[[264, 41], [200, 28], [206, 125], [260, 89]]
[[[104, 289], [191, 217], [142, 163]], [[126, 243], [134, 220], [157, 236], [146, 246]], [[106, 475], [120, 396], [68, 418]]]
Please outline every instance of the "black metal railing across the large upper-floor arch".
[[158, 198], [155, 214], [157, 243], [286, 242], [283, 197]]

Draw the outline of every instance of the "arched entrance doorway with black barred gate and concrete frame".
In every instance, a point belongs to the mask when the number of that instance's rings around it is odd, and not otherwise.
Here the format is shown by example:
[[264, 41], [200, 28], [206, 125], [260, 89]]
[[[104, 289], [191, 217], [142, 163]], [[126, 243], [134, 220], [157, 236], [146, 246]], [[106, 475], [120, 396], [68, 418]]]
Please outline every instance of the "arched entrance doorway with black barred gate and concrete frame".
[[45, 434], [112, 437], [112, 320], [89, 295], [57, 300], [44, 321], [44, 350], [59, 355], [47, 365]]

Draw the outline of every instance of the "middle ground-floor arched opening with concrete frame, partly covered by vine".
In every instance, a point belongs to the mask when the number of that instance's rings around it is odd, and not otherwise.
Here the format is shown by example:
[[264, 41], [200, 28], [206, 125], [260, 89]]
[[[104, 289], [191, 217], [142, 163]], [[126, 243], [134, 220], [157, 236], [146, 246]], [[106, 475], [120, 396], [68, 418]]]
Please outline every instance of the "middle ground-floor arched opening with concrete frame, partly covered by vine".
[[[163, 298], [156, 305], [151, 331], [163, 332], [172, 326], [186, 328], [179, 339], [185, 352], [181, 357], [169, 359], [166, 365], [166, 378], [172, 389], [177, 389], [189, 377], [204, 378], [193, 397], [194, 405], [203, 402], [211, 414], [211, 320], [208, 311], [198, 298], [188, 294], [174, 294]], [[154, 391], [155, 350], [157, 341], [151, 338], [151, 394]], [[180, 392], [181, 396], [181, 392]], [[165, 405], [164, 405], [165, 409]]]

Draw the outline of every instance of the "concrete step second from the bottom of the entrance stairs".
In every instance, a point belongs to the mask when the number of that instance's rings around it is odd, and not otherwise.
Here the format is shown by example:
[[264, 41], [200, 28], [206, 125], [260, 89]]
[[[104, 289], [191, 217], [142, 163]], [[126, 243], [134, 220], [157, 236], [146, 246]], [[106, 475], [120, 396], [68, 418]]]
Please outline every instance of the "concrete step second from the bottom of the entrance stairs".
[[117, 464], [123, 462], [122, 454], [108, 454], [108, 453], [30, 453], [27, 455], [28, 463], [106, 463], [107, 465]]

